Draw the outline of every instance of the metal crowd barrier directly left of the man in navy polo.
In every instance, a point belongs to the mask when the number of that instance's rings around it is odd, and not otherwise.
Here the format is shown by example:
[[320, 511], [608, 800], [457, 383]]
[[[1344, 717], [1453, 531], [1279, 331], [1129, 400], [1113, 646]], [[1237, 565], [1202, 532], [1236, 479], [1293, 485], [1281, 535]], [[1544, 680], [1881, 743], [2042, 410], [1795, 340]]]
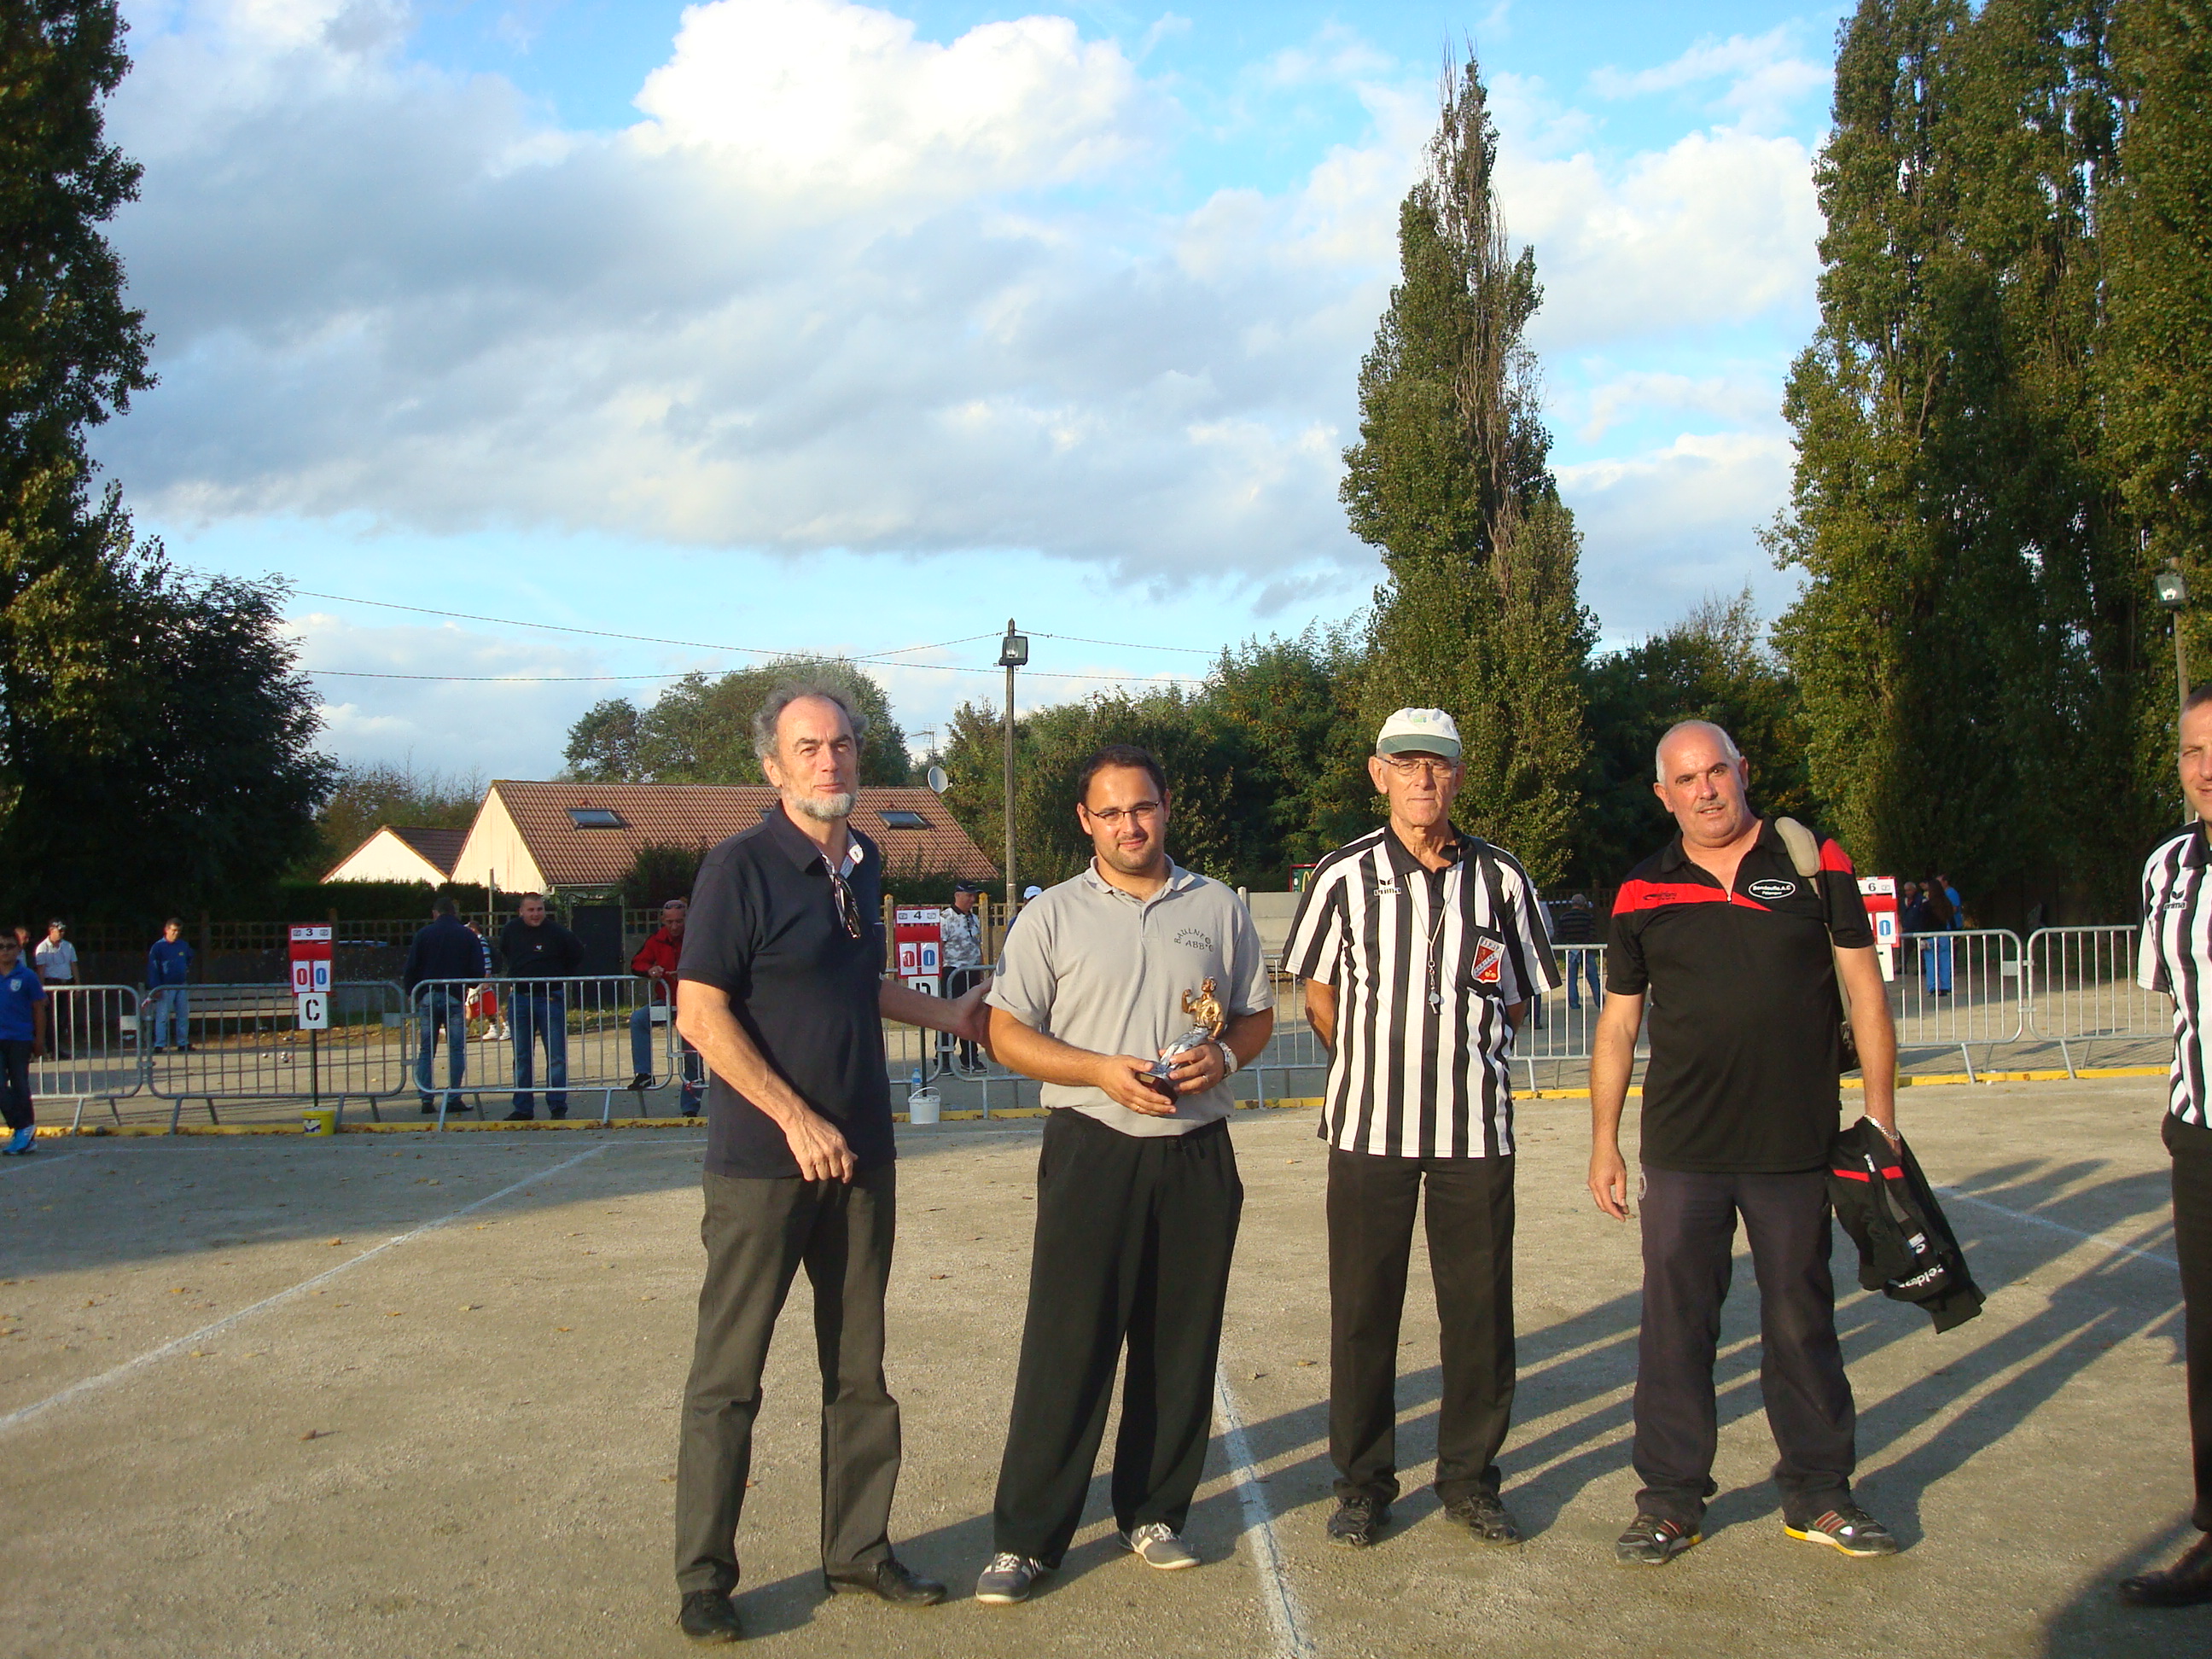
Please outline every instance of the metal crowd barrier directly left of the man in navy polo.
[[[635, 973], [422, 980], [407, 1006], [407, 1075], [400, 1086], [429, 1097], [425, 1117], [436, 1113], [438, 1128], [456, 1110], [507, 1117], [500, 1106], [520, 1108], [524, 1097], [533, 1117], [566, 1117], [571, 1095], [599, 1095], [599, 1121], [608, 1124], [615, 1117], [615, 1095], [628, 1093], [644, 1075], [648, 1082], [635, 1091], [637, 1115], [650, 1117], [646, 1095], [679, 1084], [681, 1066], [690, 1066], [695, 1082], [706, 1079], [703, 1062], [684, 1051], [668, 1004], [657, 1002], [653, 989], [653, 980]], [[458, 1079], [451, 1068], [453, 1026], [462, 1031]], [[644, 1066], [637, 1064], [633, 1033], [644, 1037]], [[427, 1071], [429, 1088], [418, 1068], [425, 1035], [436, 1048]], [[566, 1073], [557, 1084], [551, 1075], [555, 1053]], [[553, 1095], [562, 1097], [557, 1108]], [[504, 1099], [487, 1104], [487, 1097]], [[684, 1115], [681, 1097], [670, 1115]]]

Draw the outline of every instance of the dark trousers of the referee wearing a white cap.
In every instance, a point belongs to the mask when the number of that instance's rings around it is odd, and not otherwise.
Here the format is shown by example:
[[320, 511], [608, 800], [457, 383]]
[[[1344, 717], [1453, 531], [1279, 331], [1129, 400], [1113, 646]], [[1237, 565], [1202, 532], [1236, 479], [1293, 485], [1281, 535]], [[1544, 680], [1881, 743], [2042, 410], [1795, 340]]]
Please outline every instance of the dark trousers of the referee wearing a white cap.
[[1513, 1159], [1329, 1150], [1329, 1458], [1338, 1498], [1398, 1495], [1398, 1318], [1413, 1208], [1429, 1190], [1429, 1276], [1444, 1387], [1436, 1495], [1498, 1495], [1513, 1420]]

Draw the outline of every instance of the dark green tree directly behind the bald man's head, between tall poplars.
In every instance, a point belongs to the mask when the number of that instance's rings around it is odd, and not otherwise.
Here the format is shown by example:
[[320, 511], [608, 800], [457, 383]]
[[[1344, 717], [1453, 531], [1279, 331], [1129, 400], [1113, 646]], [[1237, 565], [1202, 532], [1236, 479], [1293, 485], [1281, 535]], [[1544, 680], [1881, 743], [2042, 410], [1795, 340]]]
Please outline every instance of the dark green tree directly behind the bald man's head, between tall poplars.
[[1644, 644], [1593, 657], [1586, 677], [1590, 759], [1568, 878], [1610, 887], [1670, 834], [1652, 796], [1652, 759], [1677, 721], [1712, 721], [1752, 763], [1752, 801], [1818, 823], [1805, 779], [1796, 684], [1767, 648], [1752, 593], [1705, 599]]

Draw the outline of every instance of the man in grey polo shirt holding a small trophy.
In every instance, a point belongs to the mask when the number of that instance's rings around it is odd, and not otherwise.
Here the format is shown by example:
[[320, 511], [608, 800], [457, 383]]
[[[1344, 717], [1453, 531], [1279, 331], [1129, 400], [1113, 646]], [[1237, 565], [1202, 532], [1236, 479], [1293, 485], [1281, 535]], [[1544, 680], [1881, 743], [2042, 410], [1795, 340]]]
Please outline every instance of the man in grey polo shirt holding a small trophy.
[[[1037, 1239], [1013, 1420], [978, 1601], [1022, 1601], [1082, 1522], [1128, 1343], [1113, 1511], [1148, 1566], [1197, 1566], [1183, 1517], [1212, 1425], [1243, 1183], [1228, 1075], [1274, 1033], [1265, 956], [1237, 894], [1168, 858], [1159, 761], [1113, 743], [1075, 781], [1091, 867], [1031, 900], [991, 984], [991, 1048], [1044, 1082]], [[1150, 1077], [1214, 982], [1219, 1042]]]

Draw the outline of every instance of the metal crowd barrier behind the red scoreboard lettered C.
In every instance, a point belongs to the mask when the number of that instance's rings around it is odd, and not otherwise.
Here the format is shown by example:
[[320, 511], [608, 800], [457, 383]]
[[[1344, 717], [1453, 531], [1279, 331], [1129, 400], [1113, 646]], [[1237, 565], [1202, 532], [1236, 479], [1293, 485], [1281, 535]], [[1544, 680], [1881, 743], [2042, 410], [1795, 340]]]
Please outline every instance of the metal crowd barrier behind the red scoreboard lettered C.
[[[146, 1093], [170, 1102], [175, 1130], [186, 1102], [204, 1102], [219, 1124], [217, 1102], [307, 1099], [341, 1117], [361, 1102], [405, 1088], [407, 1000], [392, 980], [343, 980], [330, 987], [330, 1029], [301, 1031], [288, 984], [190, 984], [161, 1020], [159, 991], [139, 1006]], [[166, 1026], [166, 1029], [164, 1029]], [[181, 1035], [179, 1035], [181, 1033]], [[157, 1037], [168, 1037], [155, 1046]]]

